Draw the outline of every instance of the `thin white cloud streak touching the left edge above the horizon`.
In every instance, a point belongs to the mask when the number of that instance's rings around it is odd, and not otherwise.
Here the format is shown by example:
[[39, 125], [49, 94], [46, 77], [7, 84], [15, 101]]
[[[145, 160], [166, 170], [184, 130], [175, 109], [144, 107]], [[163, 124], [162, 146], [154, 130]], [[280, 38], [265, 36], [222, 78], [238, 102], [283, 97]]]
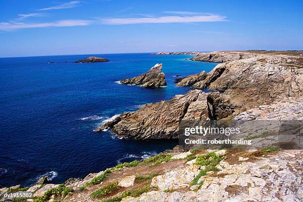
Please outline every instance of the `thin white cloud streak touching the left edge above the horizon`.
[[92, 24], [90, 20], [59, 20], [47, 23], [13, 23], [1, 22], [1, 31], [11, 31], [22, 28], [45, 28], [45, 27], [73, 27], [73, 26], [87, 26]]

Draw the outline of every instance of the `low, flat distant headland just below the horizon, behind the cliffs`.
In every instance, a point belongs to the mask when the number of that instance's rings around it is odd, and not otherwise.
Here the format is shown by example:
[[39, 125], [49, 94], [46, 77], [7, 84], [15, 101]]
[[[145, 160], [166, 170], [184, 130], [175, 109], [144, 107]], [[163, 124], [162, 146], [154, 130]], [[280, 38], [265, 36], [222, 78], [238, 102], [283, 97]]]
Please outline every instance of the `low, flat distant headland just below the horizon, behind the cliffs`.
[[195, 57], [191, 58], [194, 61], [202, 62], [230, 62], [234, 60], [241, 60], [250, 58], [255, 54], [250, 53], [239, 53], [239, 52], [210, 52], [210, 53], [199, 53]]

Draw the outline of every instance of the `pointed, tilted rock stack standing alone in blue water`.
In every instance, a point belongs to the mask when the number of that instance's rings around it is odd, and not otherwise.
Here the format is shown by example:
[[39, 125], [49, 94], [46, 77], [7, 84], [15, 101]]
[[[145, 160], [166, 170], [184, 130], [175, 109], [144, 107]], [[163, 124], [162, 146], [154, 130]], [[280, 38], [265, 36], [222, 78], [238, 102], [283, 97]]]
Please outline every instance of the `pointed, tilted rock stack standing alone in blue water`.
[[166, 86], [165, 75], [161, 71], [162, 64], [155, 64], [147, 73], [131, 79], [123, 79], [120, 82], [123, 84], [142, 85], [142, 87], [146, 88]]

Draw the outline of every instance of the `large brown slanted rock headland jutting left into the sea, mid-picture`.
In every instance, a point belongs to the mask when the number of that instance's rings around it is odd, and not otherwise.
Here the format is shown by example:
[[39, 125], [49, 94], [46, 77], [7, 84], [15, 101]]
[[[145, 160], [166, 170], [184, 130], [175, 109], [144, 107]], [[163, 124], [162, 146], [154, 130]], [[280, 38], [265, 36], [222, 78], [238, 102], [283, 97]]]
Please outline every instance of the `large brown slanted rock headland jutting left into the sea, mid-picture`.
[[111, 128], [117, 136], [133, 139], [178, 138], [180, 121], [208, 120], [209, 116], [221, 119], [230, 116], [232, 109], [229, 101], [218, 93], [191, 90], [171, 100], [147, 104], [135, 112], [124, 113], [115, 120], [115, 124], [107, 122], [98, 131]]

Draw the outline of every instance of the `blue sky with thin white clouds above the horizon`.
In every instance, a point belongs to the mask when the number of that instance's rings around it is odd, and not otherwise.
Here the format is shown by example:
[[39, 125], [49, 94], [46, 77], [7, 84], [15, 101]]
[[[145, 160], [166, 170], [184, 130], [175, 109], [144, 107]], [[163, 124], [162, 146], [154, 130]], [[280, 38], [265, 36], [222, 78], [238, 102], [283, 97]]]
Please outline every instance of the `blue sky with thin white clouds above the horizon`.
[[1, 0], [0, 57], [303, 49], [302, 0]]

